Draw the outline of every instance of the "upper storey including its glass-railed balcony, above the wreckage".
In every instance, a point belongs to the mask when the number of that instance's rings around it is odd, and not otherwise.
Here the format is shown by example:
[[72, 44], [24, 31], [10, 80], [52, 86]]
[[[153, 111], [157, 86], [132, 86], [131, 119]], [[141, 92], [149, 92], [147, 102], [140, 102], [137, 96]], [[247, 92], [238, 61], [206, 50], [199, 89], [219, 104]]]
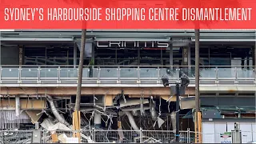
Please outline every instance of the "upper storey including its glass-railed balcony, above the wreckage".
[[[201, 30], [200, 91], [256, 91], [255, 30]], [[0, 86], [77, 86], [81, 30], [1, 31]], [[194, 88], [194, 30], [87, 30], [83, 87]], [[92, 67], [86, 67], [90, 62]]]

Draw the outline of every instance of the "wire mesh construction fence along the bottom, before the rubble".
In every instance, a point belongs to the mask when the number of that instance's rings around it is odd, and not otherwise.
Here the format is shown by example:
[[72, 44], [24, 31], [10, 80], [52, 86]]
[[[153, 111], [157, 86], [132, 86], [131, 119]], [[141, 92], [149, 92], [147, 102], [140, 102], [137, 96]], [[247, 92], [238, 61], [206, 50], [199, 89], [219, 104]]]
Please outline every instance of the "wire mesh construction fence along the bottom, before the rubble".
[[[78, 143], [75, 134], [80, 134], [81, 143], [174, 143], [176, 134], [171, 130], [2, 130], [0, 143]], [[213, 134], [198, 134], [180, 131], [179, 143], [247, 143], [256, 141], [256, 132], [240, 131]]]

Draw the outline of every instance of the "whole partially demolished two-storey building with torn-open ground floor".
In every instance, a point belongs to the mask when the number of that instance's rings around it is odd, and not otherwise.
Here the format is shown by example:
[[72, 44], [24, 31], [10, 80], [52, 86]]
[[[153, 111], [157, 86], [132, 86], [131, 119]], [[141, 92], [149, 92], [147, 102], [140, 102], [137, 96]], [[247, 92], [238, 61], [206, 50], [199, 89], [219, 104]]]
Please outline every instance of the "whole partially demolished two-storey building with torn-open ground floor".
[[[202, 132], [209, 122], [256, 126], [255, 35], [253, 30], [202, 30]], [[88, 30], [86, 37], [84, 63], [93, 65], [85, 65], [82, 74], [82, 130], [134, 130], [133, 136], [121, 134], [133, 138], [126, 142], [148, 130], [151, 140], [170, 142], [174, 134], [157, 132], [176, 129], [176, 98], [161, 78], [167, 74], [175, 83], [182, 71], [190, 85], [180, 98], [179, 126], [194, 131], [193, 30]], [[72, 130], [81, 31], [2, 31], [0, 42], [0, 129]], [[230, 106], [235, 110], [223, 110]], [[98, 141], [118, 142], [113, 135]]]

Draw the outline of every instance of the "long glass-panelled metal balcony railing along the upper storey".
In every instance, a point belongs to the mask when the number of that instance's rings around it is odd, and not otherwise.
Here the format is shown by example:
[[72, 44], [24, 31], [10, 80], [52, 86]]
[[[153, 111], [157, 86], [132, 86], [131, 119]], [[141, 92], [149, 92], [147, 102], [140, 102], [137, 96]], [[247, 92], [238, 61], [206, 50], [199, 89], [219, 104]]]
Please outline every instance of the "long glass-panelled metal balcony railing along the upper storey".
[[[183, 71], [194, 83], [194, 66], [90, 66], [84, 67], [83, 84], [161, 84]], [[76, 84], [78, 66], [0, 66], [2, 84]], [[200, 84], [255, 84], [255, 66], [200, 66]]]

